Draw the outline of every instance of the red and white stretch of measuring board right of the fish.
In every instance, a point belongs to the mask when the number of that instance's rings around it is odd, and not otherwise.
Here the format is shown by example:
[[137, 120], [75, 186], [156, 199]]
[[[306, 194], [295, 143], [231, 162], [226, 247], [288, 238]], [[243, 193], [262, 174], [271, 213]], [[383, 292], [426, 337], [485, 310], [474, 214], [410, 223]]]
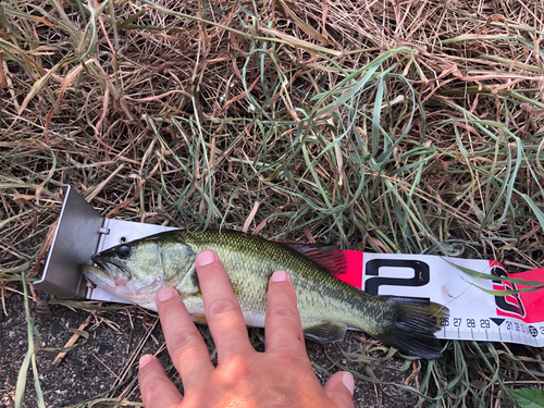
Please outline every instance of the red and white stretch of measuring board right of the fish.
[[[493, 261], [443, 258], [431, 255], [391, 255], [345, 251], [348, 271], [336, 275], [372, 295], [396, 295], [430, 299], [449, 309], [441, 322], [440, 338], [506, 342], [544, 346], [544, 288], [509, 296], [493, 290], [529, 288], [500, 281], [517, 277], [544, 283], [544, 268], [508, 274]], [[496, 280], [474, 279], [456, 265]]]

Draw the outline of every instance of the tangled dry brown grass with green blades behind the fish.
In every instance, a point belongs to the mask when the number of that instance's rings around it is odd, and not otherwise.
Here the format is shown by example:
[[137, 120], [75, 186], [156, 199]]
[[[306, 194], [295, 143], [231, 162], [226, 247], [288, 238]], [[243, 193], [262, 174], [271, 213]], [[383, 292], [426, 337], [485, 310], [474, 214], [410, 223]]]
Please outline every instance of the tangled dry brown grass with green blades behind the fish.
[[[4, 2], [0, 277], [37, 274], [64, 183], [109, 218], [537, 268], [543, 34], [539, 0]], [[504, 397], [519, 359], [474, 347], [420, 392]], [[469, 360], [491, 393], [444, 387]]]

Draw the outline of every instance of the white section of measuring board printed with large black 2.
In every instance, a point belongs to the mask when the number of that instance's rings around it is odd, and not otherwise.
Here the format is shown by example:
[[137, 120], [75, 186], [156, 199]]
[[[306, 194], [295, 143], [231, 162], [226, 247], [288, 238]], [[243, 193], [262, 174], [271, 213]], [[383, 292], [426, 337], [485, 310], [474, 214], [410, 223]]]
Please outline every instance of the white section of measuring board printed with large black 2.
[[[425, 255], [388, 254], [387, 261], [383, 261], [384, 258], [384, 255], [364, 252], [362, 288], [372, 293], [373, 286], [373, 290], [378, 287], [378, 295], [422, 297], [445, 305], [449, 318], [442, 321], [437, 337], [544, 346], [544, 322], [526, 323], [498, 316], [495, 296], [475, 286], [493, 289], [493, 281], [473, 279], [455, 267], [490, 274], [489, 261]], [[397, 264], [391, 265], [395, 261]], [[410, 262], [416, 269], [410, 268]], [[395, 282], [396, 285], [392, 285]]]

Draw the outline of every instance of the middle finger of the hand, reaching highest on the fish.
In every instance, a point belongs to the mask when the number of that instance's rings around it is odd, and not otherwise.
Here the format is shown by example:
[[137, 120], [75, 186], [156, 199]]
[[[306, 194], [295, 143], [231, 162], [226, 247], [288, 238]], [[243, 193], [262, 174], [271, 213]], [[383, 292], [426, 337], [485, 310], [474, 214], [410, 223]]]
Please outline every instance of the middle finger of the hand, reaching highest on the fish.
[[215, 252], [203, 250], [195, 265], [202, 293], [206, 320], [218, 347], [218, 362], [252, 350], [246, 323], [231, 281]]

